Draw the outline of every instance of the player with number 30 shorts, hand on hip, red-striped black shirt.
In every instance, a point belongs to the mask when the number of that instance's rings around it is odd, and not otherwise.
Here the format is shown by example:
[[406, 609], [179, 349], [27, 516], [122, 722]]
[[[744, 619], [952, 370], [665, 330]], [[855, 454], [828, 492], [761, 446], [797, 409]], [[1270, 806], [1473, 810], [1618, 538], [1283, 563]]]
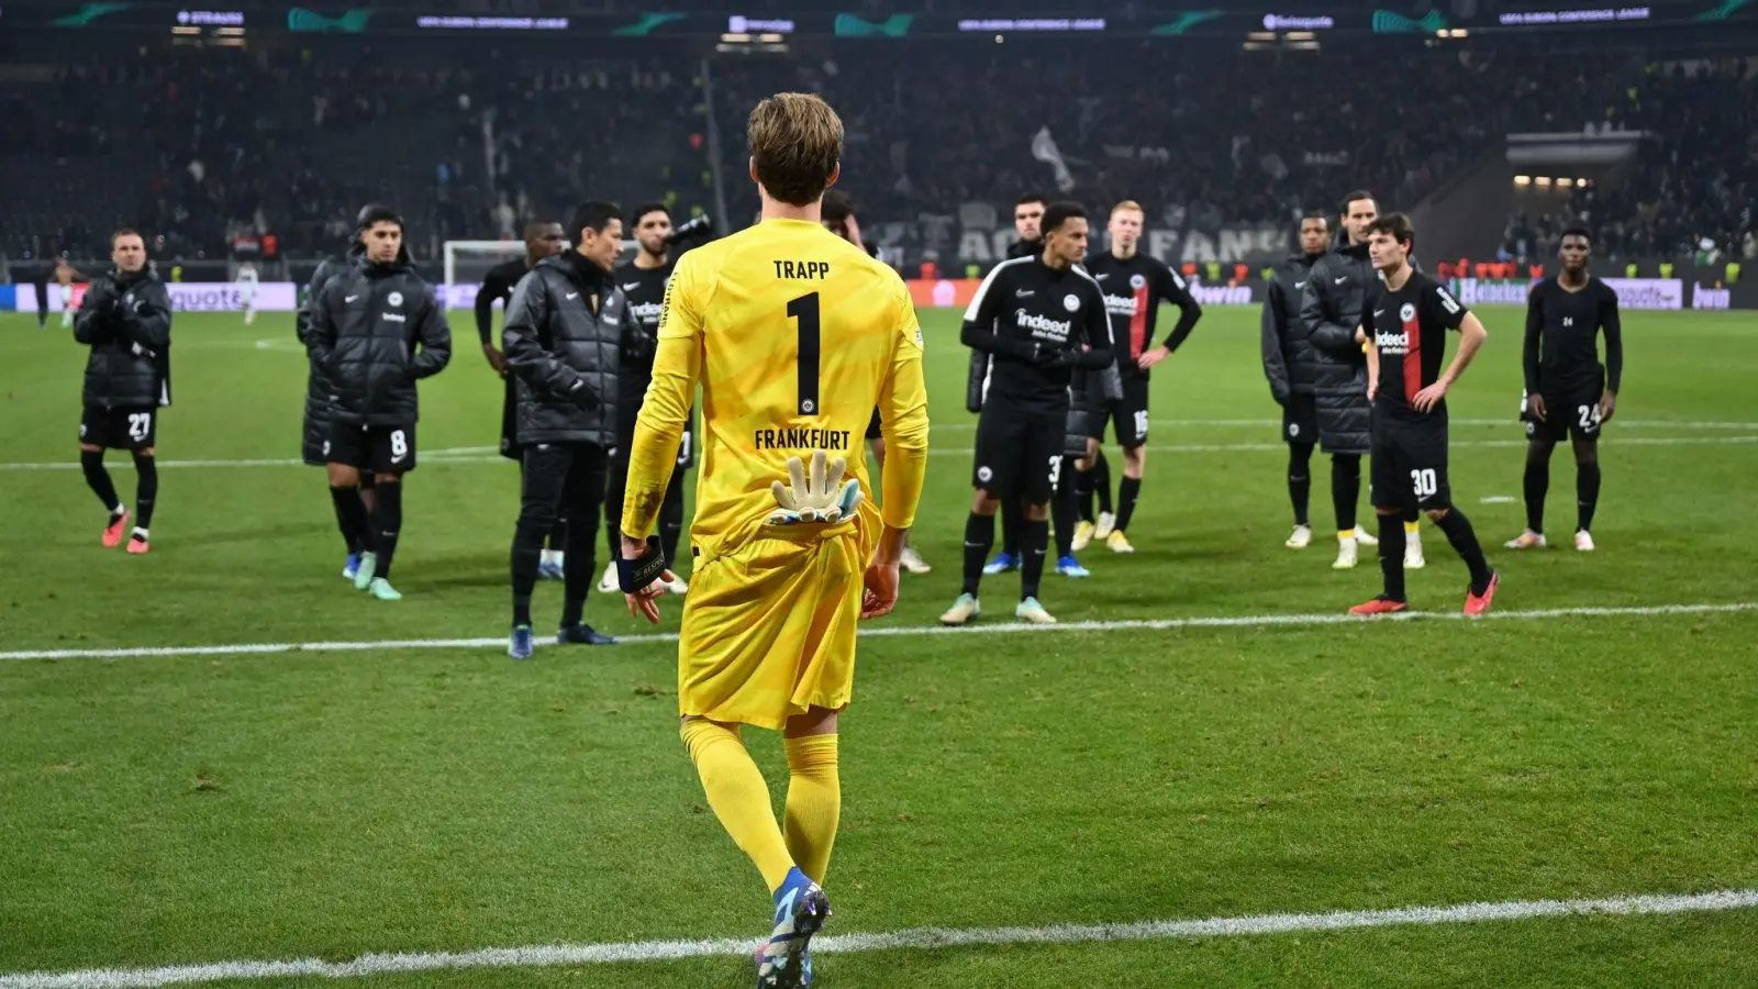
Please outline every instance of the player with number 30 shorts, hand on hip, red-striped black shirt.
[[[1440, 282], [1410, 267], [1415, 231], [1401, 213], [1368, 225], [1368, 257], [1382, 289], [1369, 294], [1357, 341], [1368, 347], [1368, 399], [1373, 401], [1373, 510], [1380, 517], [1380, 570], [1385, 593], [1350, 614], [1391, 614], [1405, 598], [1405, 524], [1417, 507], [1447, 533], [1447, 542], [1471, 570], [1464, 612], [1489, 611], [1498, 577], [1484, 560], [1464, 512], [1452, 505], [1447, 482], [1447, 389], [1484, 345], [1484, 324]], [[1459, 333], [1452, 364], [1442, 371], [1447, 331]]]

